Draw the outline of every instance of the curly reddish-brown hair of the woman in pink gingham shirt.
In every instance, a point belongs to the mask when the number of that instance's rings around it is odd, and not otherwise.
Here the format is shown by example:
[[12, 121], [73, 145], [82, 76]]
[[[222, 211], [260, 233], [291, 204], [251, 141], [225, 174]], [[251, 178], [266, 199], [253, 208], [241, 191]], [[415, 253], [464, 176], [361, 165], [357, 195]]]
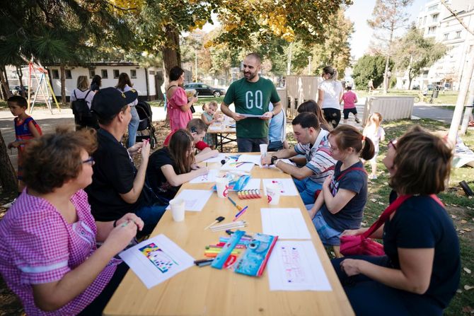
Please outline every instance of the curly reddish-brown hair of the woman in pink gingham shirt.
[[97, 149], [95, 129], [71, 131], [57, 127], [55, 134], [32, 139], [25, 146], [23, 182], [40, 194], [53, 192], [82, 170], [81, 151]]

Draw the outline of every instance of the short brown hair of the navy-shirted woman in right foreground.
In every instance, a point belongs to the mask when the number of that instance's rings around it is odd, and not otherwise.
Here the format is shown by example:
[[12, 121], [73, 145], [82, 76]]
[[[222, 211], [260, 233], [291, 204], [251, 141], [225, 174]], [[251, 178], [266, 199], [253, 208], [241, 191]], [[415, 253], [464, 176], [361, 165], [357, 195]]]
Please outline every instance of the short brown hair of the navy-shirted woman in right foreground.
[[453, 152], [445, 141], [419, 125], [397, 141], [391, 187], [398, 194], [437, 194], [444, 191]]

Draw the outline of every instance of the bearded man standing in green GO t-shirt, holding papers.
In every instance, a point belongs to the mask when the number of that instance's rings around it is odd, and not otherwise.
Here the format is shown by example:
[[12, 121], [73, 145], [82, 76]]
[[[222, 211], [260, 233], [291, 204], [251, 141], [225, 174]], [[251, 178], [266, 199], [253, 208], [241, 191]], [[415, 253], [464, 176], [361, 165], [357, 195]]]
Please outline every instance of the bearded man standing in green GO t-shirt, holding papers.
[[[272, 81], [258, 75], [260, 64], [258, 54], [245, 56], [244, 78], [231, 84], [221, 104], [221, 111], [236, 120], [239, 153], [260, 151], [260, 144], [268, 144], [268, 120], [282, 110], [282, 103]], [[268, 109], [270, 102], [274, 105], [272, 111]], [[232, 103], [236, 112], [229, 109]]]

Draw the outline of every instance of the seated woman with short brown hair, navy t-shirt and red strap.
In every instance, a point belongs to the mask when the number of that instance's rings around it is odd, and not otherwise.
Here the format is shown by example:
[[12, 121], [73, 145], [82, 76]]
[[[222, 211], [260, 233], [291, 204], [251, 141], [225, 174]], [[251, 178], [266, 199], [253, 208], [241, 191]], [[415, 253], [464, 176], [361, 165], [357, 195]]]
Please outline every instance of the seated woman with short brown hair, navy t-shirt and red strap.
[[333, 259], [356, 315], [442, 315], [456, 294], [458, 235], [435, 195], [444, 191], [452, 157], [442, 139], [420, 127], [389, 143], [383, 164], [391, 175], [391, 204], [399, 206], [369, 235], [383, 239], [386, 255]]

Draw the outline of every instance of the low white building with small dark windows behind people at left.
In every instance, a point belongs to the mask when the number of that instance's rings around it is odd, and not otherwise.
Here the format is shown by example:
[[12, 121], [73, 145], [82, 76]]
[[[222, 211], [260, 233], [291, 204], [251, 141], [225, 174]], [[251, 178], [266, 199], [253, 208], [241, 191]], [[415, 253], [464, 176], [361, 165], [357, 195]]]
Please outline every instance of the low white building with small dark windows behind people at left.
[[[59, 64], [46, 64], [54, 95], [61, 98], [61, 78]], [[133, 88], [137, 90], [139, 100], [156, 100], [163, 98], [163, 69], [157, 67], [144, 68], [133, 62], [95, 62], [88, 66], [66, 66], [66, 95], [69, 96], [77, 88], [77, 78], [88, 76], [89, 83], [93, 76], [102, 77], [102, 88], [117, 86], [118, 77], [122, 72], [129, 75]]]

